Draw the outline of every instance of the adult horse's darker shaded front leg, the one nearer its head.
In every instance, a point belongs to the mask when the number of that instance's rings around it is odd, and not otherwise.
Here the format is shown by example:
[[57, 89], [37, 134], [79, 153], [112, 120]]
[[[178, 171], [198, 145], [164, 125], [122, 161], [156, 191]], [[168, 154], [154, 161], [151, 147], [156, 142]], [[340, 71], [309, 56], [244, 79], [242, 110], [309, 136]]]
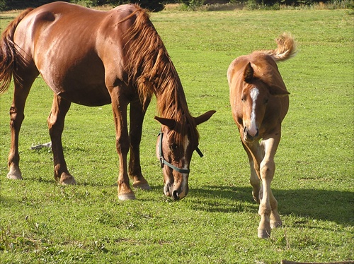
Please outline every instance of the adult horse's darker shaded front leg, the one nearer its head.
[[150, 190], [151, 187], [147, 180], [142, 176], [142, 167], [140, 166], [140, 141], [142, 140], [142, 122], [145, 112], [149, 106], [150, 98], [144, 102], [144, 105], [137, 98], [130, 103], [130, 160], [129, 175], [134, 180], [132, 184], [135, 188]]

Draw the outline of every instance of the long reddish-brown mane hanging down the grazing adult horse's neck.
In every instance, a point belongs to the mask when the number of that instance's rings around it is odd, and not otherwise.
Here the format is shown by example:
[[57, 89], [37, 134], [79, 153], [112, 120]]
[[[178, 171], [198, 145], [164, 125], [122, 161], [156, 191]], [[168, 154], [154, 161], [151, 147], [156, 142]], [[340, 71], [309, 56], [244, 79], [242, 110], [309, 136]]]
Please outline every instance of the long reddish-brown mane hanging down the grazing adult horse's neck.
[[135, 22], [125, 32], [129, 80], [137, 88], [142, 102], [152, 94], [156, 95], [159, 114], [176, 121], [172, 133], [176, 133], [177, 141], [181, 142], [187, 133], [185, 124], [189, 124], [192, 140], [198, 142], [195, 120], [188, 110], [176, 68], [149, 19], [149, 13], [137, 5], [135, 8], [137, 10], [130, 15], [135, 14]]

